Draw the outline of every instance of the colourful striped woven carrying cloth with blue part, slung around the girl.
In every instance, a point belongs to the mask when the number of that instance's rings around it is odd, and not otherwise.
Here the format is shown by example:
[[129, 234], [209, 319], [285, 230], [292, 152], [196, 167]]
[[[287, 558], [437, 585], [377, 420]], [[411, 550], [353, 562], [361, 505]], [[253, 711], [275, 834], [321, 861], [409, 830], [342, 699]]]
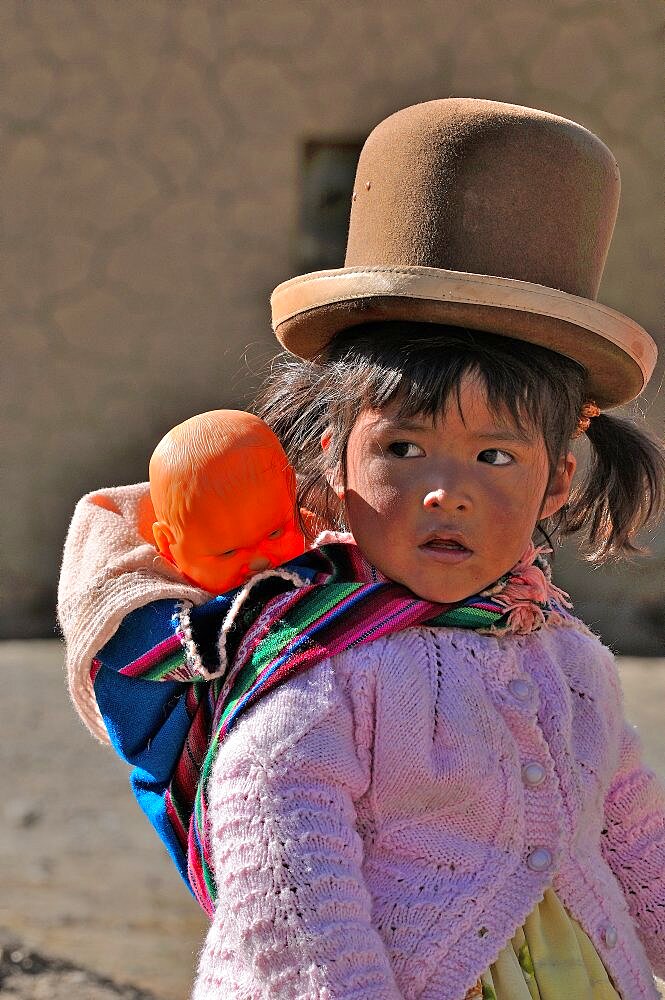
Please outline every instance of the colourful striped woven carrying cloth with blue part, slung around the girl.
[[539, 627], [567, 604], [541, 552], [531, 546], [489, 591], [445, 605], [380, 576], [355, 544], [333, 542], [208, 605], [161, 601], [127, 616], [93, 661], [95, 694], [116, 749], [137, 764], [140, 804], [206, 913], [217, 901], [206, 786], [240, 713], [287, 677], [402, 629]]

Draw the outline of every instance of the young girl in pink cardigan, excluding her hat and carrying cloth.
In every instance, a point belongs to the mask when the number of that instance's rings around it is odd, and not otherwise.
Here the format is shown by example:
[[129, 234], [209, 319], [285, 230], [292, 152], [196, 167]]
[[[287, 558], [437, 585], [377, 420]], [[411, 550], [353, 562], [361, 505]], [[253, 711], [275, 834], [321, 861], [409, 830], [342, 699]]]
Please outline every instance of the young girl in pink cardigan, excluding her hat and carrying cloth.
[[[229, 894], [197, 996], [238, 954], [283, 976], [280, 996], [655, 995], [665, 797], [612, 657], [530, 544], [558, 521], [584, 525], [597, 558], [628, 552], [661, 502], [662, 453], [586, 404], [586, 381], [536, 346], [407, 323], [341, 334], [323, 368], [280, 367], [264, 417], [368, 577], [515, 612], [494, 634], [351, 648], [238, 724], [210, 787]], [[569, 501], [583, 431], [594, 459]]]

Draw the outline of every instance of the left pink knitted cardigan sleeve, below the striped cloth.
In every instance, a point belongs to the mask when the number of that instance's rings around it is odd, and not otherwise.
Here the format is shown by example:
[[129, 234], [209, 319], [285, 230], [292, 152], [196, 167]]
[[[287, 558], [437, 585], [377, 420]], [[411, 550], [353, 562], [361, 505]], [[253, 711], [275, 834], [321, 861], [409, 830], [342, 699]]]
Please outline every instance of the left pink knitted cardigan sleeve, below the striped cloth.
[[401, 996], [372, 925], [357, 830], [368, 717], [334, 664], [259, 701], [219, 750], [209, 785], [219, 902], [193, 1000]]

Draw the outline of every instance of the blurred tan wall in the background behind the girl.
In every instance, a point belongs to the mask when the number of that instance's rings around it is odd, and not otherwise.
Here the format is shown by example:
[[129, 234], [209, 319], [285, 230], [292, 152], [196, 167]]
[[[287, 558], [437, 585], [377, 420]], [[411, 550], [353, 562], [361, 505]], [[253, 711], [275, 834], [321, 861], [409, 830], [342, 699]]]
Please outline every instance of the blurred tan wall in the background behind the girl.
[[[1, 634], [52, 632], [82, 493], [251, 399], [307, 139], [448, 95], [577, 119], [623, 175], [600, 299], [662, 344], [661, 21], [646, 0], [3, 0]], [[662, 397], [642, 407], [662, 432]], [[662, 532], [655, 551], [628, 575], [561, 559], [626, 651], [665, 651]]]

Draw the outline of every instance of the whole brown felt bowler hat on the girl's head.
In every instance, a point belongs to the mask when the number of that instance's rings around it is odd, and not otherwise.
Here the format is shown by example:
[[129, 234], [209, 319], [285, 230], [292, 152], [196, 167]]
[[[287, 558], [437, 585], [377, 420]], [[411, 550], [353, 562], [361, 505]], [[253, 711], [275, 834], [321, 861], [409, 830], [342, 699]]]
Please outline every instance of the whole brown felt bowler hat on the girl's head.
[[596, 302], [619, 188], [607, 146], [565, 118], [470, 98], [405, 108], [363, 147], [345, 266], [278, 285], [275, 334], [314, 358], [377, 320], [487, 330], [573, 358], [599, 406], [625, 403], [657, 352]]

